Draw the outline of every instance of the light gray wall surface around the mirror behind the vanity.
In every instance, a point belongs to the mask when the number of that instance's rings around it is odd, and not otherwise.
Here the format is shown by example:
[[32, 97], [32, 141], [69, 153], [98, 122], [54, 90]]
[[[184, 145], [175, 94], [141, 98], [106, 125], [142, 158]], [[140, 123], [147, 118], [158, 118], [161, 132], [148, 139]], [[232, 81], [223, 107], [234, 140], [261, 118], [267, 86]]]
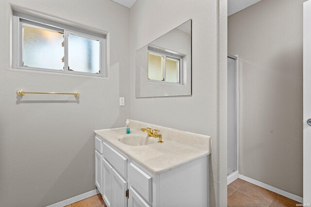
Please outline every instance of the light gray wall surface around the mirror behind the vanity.
[[[226, 206], [226, 9], [222, 0], [138, 0], [130, 21], [131, 119], [211, 136], [211, 207]], [[136, 98], [136, 50], [190, 18], [192, 96]]]

